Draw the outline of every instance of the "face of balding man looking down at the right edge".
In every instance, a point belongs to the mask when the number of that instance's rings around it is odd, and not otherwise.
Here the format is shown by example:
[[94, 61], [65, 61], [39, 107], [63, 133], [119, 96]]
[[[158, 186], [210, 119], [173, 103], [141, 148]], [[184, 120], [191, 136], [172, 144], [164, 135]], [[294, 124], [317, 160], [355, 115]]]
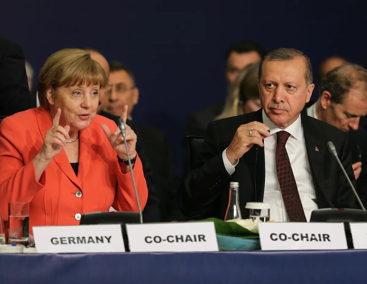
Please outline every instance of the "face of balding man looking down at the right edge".
[[351, 89], [342, 103], [328, 103], [325, 121], [346, 132], [350, 129], [357, 130], [360, 117], [367, 114], [366, 97], [365, 92], [357, 88]]

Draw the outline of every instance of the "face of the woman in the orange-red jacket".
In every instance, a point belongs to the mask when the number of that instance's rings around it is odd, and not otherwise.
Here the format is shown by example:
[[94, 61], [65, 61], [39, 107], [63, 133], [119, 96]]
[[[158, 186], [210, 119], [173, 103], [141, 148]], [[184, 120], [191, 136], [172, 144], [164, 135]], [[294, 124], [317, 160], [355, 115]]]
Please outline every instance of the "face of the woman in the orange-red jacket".
[[98, 107], [99, 85], [75, 85], [47, 90], [51, 116], [61, 109], [60, 125], [70, 125], [70, 131], [86, 129]]

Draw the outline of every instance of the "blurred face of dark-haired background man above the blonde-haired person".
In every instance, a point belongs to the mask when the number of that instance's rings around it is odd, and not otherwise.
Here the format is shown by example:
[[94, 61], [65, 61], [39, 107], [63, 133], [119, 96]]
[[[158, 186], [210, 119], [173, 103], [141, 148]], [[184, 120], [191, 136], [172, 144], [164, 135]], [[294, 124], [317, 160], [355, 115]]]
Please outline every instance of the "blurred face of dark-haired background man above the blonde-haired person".
[[261, 61], [260, 55], [256, 51], [238, 53], [232, 51], [227, 59], [226, 79], [227, 83], [232, 83], [241, 69], [252, 63]]

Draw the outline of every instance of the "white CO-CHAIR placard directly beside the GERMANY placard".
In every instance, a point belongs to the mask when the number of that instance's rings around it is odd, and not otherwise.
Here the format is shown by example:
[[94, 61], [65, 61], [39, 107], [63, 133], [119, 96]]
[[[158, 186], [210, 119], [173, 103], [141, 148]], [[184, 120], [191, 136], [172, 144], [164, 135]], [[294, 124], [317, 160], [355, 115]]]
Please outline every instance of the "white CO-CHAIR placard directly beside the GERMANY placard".
[[126, 224], [131, 252], [218, 251], [213, 222]]

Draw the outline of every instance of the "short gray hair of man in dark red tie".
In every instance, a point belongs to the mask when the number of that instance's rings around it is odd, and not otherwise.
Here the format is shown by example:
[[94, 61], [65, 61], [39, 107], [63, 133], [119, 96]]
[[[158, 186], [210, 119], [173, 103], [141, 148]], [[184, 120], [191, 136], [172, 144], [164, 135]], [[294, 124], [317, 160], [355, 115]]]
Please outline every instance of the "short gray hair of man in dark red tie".
[[262, 72], [262, 63], [264, 61], [288, 61], [295, 59], [297, 57], [303, 57], [305, 59], [306, 63], [306, 74], [305, 74], [305, 80], [306, 85], [312, 83], [312, 65], [310, 62], [310, 59], [306, 54], [304, 54], [302, 51], [299, 51], [295, 48], [278, 48], [276, 50], [270, 51], [268, 54], [264, 56], [262, 61], [260, 62], [259, 67], [259, 74], [258, 74], [258, 80], [260, 81], [261, 78], [261, 72]]

